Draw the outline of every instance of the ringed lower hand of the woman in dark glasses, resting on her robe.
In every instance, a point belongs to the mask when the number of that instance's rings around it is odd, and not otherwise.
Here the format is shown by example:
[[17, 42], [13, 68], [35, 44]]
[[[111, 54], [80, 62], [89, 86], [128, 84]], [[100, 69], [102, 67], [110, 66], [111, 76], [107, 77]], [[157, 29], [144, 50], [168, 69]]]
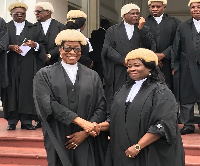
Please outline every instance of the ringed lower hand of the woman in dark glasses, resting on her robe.
[[71, 138], [69, 141], [66, 142], [67, 149], [76, 149], [78, 145], [80, 145], [86, 138], [88, 134], [85, 131], [76, 132], [72, 135], [67, 136], [67, 138]]

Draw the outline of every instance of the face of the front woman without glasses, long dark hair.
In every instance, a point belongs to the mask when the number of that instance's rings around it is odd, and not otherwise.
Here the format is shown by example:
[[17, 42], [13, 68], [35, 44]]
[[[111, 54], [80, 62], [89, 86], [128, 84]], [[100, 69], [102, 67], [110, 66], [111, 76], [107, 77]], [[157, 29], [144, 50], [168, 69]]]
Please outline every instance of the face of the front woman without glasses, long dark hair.
[[146, 78], [151, 71], [149, 68], [145, 67], [142, 61], [139, 59], [129, 60], [127, 67], [129, 76], [136, 81]]

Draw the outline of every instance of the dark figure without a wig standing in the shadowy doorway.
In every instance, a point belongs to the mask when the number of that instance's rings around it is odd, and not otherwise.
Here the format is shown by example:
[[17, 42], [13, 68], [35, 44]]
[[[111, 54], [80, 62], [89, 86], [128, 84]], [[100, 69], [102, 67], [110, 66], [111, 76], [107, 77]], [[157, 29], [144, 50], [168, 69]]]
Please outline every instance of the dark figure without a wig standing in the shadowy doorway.
[[90, 42], [93, 48], [93, 54], [91, 59], [94, 62], [92, 69], [99, 74], [102, 82], [103, 82], [103, 67], [101, 61], [101, 51], [103, 48], [106, 30], [109, 27], [110, 27], [109, 20], [102, 19], [100, 22], [100, 28], [97, 30], [93, 30], [90, 38]]

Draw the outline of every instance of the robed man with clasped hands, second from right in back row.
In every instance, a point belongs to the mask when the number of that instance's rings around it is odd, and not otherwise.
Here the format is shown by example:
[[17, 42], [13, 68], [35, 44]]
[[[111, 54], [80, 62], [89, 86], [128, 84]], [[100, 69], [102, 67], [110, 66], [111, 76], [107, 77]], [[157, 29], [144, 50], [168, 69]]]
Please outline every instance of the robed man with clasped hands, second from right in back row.
[[177, 26], [180, 21], [165, 14], [167, 0], [149, 0], [149, 12], [145, 25], [150, 27], [156, 41], [156, 51], [159, 66], [165, 76], [169, 88], [173, 90], [173, 77], [171, 70], [171, 46], [174, 41]]

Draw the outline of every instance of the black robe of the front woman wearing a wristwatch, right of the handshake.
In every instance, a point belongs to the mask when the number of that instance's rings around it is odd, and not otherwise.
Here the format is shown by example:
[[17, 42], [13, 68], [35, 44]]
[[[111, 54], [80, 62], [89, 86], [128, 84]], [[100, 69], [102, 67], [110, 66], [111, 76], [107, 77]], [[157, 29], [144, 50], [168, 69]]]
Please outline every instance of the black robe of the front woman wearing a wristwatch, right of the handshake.
[[[116, 94], [110, 115], [110, 145], [106, 166], [184, 166], [184, 149], [177, 124], [178, 107], [169, 88], [160, 83], [143, 83], [128, 107], [125, 102], [132, 86]], [[162, 137], [129, 158], [125, 151], [146, 133]]]

